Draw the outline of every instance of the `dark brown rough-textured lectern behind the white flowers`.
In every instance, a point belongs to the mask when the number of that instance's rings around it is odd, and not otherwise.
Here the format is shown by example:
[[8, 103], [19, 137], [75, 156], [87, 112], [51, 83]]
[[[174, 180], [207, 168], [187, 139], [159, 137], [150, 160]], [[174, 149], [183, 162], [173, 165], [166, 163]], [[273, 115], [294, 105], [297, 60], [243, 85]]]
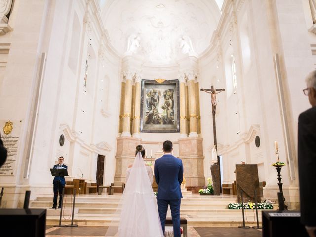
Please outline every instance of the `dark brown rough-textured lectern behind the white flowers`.
[[241, 202], [240, 190], [243, 190], [243, 202], [255, 202], [254, 190], [257, 190], [257, 202], [261, 202], [259, 190], [258, 166], [256, 164], [236, 164], [236, 189], [238, 202]]

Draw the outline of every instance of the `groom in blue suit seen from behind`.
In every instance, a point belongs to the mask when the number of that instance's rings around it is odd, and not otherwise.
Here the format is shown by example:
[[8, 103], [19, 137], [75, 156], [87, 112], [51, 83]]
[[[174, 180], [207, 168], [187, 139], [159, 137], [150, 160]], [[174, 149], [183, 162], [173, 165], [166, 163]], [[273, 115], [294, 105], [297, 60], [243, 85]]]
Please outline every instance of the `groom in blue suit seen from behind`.
[[157, 204], [161, 221], [162, 231], [164, 233], [164, 225], [168, 205], [170, 205], [173, 236], [180, 237], [180, 204], [181, 204], [181, 188], [183, 179], [182, 160], [172, 156], [172, 142], [165, 141], [162, 145], [164, 155], [155, 161], [155, 180], [158, 184]]

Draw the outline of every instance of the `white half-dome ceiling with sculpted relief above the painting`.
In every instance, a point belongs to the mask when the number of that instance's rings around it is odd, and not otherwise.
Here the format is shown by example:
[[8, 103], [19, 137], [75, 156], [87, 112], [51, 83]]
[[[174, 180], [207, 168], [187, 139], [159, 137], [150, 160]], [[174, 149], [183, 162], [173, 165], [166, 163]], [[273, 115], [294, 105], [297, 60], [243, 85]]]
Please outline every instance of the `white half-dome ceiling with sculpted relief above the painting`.
[[141, 55], [152, 65], [201, 54], [216, 29], [219, 0], [108, 0], [102, 20], [121, 54]]

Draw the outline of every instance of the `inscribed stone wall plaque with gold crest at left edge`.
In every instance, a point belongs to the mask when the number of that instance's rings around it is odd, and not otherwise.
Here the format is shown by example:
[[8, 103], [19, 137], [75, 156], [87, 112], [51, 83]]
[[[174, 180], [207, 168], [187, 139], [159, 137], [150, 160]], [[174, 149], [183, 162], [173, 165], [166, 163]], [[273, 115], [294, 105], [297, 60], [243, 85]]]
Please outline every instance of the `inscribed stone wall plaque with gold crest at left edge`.
[[[3, 127], [3, 129], [5, 128], [6, 131], [8, 130], [7, 124], [7, 120], [0, 120], [1, 127]], [[16, 160], [19, 154], [20, 131], [22, 127], [22, 121], [10, 121], [10, 126], [12, 126], [10, 132], [1, 131], [1, 139], [8, 153], [5, 163], [0, 168], [0, 176], [12, 176], [16, 173]]]

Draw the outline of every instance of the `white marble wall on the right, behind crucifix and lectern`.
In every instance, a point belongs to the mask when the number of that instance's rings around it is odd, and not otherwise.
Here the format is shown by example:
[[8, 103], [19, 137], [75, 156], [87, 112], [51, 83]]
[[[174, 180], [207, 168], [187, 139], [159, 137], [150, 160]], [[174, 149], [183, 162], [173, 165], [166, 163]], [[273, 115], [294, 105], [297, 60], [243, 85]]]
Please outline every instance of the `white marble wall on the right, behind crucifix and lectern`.
[[[235, 180], [235, 164], [241, 161], [258, 164], [259, 179], [267, 182], [265, 196], [276, 198], [276, 170], [271, 163], [276, 161], [273, 144], [277, 140], [280, 160], [287, 164], [282, 169], [283, 190], [294, 206], [298, 202], [297, 119], [299, 113], [309, 107], [302, 89], [306, 87], [306, 75], [314, 68], [310, 43], [315, 37], [305, 25], [304, 18], [309, 19], [306, 14], [310, 14], [304, 11], [305, 5], [304, 1], [293, 4], [275, 0], [224, 2], [222, 24], [212, 38], [214, 47], [200, 60], [201, 87], [212, 84], [216, 88], [226, 86], [228, 89], [224, 94], [217, 95], [216, 116], [224, 182]], [[220, 56], [218, 53], [216, 56], [218, 51]], [[280, 57], [284, 84], [285, 116], [290, 131], [289, 151], [281, 117], [275, 53]], [[237, 88], [229, 90], [231, 55], [236, 61]], [[201, 107], [205, 108], [207, 104], [210, 104], [208, 96], [201, 95]], [[212, 125], [203, 118], [210, 119], [210, 116], [208, 113], [202, 115], [204, 144], [209, 144], [212, 143], [212, 135], [207, 133], [212, 131]], [[261, 138], [259, 148], [254, 146], [256, 135]], [[211, 146], [207, 144], [204, 145], [205, 160], [209, 160], [210, 156]], [[290, 158], [288, 154], [291, 154]]]

